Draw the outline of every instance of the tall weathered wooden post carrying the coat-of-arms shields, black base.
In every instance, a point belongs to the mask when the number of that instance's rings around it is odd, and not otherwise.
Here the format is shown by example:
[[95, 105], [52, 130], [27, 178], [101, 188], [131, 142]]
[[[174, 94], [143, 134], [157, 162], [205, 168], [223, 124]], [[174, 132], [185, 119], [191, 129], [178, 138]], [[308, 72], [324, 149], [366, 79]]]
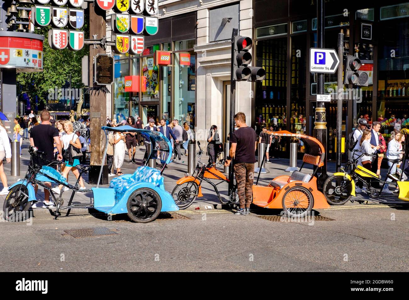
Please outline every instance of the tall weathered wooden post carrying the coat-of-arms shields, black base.
[[[95, 2], [89, 2], [90, 8], [90, 38], [93, 35], [98, 35], [98, 39], [106, 35], [106, 11], [100, 9]], [[91, 135], [91, 169], [89, 172], [89, 183], [97, 184], [99, 171], [101, 168], [103, 153], [106, 145], [105, 134], [101, 131], [101, 127], [106, 125], [106, 93], [95, 88], [101, 87], [94, 83], [94, 56], [98, 53], [104, 53], [105, 50], [98, 46], [97, 49], [92, 49], [93, 44], [90, 44], [90, 135]], [[108, 166], [103, 167], [100, 184], [108, 184]]]

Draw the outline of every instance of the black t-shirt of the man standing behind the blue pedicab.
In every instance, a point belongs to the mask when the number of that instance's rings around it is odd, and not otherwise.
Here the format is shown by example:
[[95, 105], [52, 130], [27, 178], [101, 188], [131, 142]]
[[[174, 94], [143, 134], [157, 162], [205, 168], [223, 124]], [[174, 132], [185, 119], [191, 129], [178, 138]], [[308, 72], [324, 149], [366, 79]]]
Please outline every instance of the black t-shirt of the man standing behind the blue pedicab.
[[30, 137], [39, 151], [47, 154], [47, 160], [54, 160], [54, 137], [58, 136], [58, 129], [49, 124], [39, 124], [31, 128]]

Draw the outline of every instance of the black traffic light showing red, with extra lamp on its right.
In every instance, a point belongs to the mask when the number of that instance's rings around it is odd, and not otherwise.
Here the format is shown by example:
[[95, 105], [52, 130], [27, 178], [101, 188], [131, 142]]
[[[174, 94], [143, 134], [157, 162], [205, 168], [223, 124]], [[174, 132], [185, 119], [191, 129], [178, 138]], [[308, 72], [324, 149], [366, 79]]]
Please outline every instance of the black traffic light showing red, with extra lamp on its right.
[[260, 67], [248, 67], [252, 62], [253, 41], [246, 36], [234, 38], [234, 54], [231, 58], [233, 64], [233, 80], [237, 81], [262, 81], [265, 79], [265, 70]]

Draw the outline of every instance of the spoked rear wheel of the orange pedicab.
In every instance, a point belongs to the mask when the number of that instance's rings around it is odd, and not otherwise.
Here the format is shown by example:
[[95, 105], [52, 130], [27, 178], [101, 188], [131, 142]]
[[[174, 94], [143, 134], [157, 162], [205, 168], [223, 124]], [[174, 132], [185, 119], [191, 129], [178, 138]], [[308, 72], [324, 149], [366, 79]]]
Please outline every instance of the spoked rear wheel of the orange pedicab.
[[314, 206], [312, 194], [305, 187], [290, 187], [283, 196], [283, 210], [289, 217], [302, 218]]

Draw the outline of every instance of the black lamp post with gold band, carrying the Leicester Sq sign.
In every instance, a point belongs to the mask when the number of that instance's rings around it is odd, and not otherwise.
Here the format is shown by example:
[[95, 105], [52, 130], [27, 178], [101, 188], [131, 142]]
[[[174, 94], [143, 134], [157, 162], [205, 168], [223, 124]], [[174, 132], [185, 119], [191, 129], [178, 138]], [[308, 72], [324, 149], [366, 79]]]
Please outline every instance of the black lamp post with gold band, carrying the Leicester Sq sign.
[[[317, 48], [324, 48], [324, 0], [317, 0]], [[317, 73], [317, 95], [324, 95], [324, 73]], [[341, 110], [342, 111], [342, 110]], [[315, 108], [314, 136], [321, 142], [324, 149], [327, 149], [327, 121], [325, 102], [317, 101]], [[320, 167], [317, 185], [323, 186], [328, 178], [327, 156], [324, 156], [324, 166]]]

